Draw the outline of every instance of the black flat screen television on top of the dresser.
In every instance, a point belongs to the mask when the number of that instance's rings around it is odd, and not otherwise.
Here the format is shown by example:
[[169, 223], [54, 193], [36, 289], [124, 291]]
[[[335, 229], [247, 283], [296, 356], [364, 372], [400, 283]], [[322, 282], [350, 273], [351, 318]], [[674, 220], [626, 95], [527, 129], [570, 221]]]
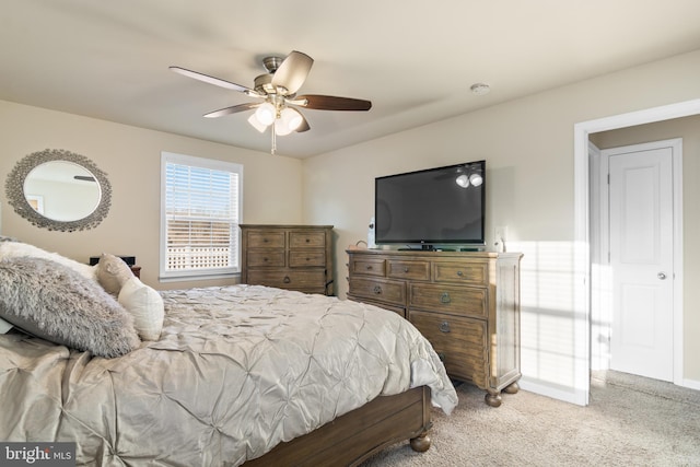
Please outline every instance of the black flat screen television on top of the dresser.
[[377, 177], [374, 195], [377, 245], [477, 249], [486, 244], [486, 161]]

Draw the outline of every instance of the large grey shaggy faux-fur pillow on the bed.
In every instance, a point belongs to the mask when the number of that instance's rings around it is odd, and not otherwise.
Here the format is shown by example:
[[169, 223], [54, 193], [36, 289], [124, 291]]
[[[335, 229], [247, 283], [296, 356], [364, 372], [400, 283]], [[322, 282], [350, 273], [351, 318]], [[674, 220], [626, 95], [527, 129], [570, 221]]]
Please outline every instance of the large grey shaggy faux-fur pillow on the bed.
[[97, 282], [44, 258], [0, 259], [0, 317], [100, 357], [124, 355], [139, 346], [133, 318]]

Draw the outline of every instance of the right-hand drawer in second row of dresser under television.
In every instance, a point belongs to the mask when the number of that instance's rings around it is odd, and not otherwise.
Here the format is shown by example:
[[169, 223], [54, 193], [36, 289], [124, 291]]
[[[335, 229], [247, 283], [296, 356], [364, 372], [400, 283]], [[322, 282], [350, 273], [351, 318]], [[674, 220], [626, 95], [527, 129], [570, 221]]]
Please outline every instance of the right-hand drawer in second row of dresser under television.
[[411, 283], [408, 306], [486, 318], [487, 290], [436, 283]]

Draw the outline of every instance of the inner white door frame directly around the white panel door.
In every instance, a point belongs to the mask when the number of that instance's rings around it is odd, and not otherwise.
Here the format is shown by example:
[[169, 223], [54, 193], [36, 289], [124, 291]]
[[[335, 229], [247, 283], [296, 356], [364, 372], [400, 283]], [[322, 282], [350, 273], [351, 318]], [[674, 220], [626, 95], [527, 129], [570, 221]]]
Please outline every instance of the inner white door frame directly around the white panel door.
[[[593, 145], [593, 144], [591, 144]], [[682, 349], [684, 349], [684, 327], [682, 327], [682, 270], [684, 270], [684, 244], [682, 244], [682, 138], [672, 138], [658, 141], [651, 141], [644, 143], [626, 144], [615, 149], [633, 148], [638, 151], [648, 151], [654, 149], [670, 148], [672, 150], [672, 184], [673, 184], [673, 210], [674, 210], [674, 223], [673, 223], [673, 382], [680, 385], [682, 383]], [[592, 154], [593, 157], [598, 161], [592, 160], [592, 206], [591, 206], [591, 225], [593, 226], [594, 237], [591, 241], [592, 252], [592, 265], [602, 265], [602, 269], [609, 267], [610, 261], [607, 253], [609, 252], [609, 222], [608, 222], [608, 202], [609, 202], [609, 184], [607, 177], [609, 174], [609, 156], [604, 156], [603, 152], [606, 151], [597, 149], [597, 153]], [[596, 179], [597, 178], [597, 179]], [[597, 190], [597, 192], [596, 192]], [[597, 206], [595, 202], [597, 201]], [[603, 273], [596, 278], [595, 271], [592, 271], [592, 295], [603, 295], [604, 291], [611, 290], [610, 283], [611, 276], [609, 273]], [[597, 291], [596, 291], [597, 288]], [[609, 305], [610, 310], [596, 310], [596, 305], [602, 308]], [[614, 316], [612, 310], [614, 303], [607, 301], [606, 297], [602, 297], [597, 303], [592, 301], [592, 316], [607, 316], [608, 318]], [[595, 320], [593, 322], [595, 323]], [[608, 320], [607, 336], [610, 336], [610, 327], [612, 326], [611, 319]], [[592, 339], [592, 370], [608, 370], [610, 367], [611, 353], [607, 358], [604, 357], [603, 346], [596, 349], [597, 339]]]

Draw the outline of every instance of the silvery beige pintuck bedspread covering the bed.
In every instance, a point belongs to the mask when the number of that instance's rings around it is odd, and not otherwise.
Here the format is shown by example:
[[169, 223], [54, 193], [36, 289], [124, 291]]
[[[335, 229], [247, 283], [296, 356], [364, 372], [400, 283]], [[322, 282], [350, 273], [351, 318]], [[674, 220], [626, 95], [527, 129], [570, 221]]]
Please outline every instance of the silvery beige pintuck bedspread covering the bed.
[[79, 465], [240, 465], [381, 395], [456, 405], [392, 312], [259, 285], [161, 294], [160, 340], [124, 357], [0, 336], [0, 440], [74, 441]]

